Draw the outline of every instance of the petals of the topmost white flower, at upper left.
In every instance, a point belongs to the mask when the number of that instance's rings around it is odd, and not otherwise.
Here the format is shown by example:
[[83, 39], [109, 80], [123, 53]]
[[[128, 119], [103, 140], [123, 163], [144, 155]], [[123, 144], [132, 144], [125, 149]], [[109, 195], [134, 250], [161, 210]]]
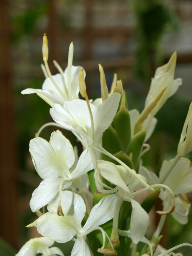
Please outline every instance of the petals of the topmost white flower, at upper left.
[[[71, 67], [71, 98], [78, 99], [79, 98], [79, 86], [78, 86], [78, 78], [79, 73], [83, 68], [81, 66], [72, 66]], [[84, 78], [86, 76], [86, 72], [84, 71]], [[32, 89], [28, 88], [23, 90], [22, 94], [30, 94], [30, 93], [39, 93], [38, 95], [43, 95], [49, 99], [49, 104], [52, 106], [54, 103], [59, 103], [63, 105], [65, 101], [69, 100], [68, 95], [68, 81], [67, 81], [67, 68], [65, 69], [63, 76], [61, 74], [56, 74], [52, 76], [53, 80], [57, 84], [59, 90], [52, 83], [50, 78], [46, 78], [42, 89]]]

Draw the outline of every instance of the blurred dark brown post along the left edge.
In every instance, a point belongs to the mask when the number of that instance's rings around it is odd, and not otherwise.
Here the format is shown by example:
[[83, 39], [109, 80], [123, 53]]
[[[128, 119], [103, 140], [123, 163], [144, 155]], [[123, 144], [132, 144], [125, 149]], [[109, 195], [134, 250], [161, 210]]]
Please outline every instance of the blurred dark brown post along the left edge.
[[17, 247], [17, 168], [14, 140], [14, 102], [11, 84], [11, 56], [8, 1], [0, 2], [0, 237]]

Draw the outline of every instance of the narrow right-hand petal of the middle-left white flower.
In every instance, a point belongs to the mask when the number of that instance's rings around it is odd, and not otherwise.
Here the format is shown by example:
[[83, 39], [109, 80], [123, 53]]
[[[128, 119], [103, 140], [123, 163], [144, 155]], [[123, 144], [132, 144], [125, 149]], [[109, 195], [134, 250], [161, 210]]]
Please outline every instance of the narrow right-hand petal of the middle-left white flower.
[[86, 148], [80, 155], [78, 163], [73, 170], [73, 172], [69, 175], [70, 179], [76, 179], [79, 176], [87, 173], [88, 171], [93, 169], [93, 164], [91, 161], [91, 157], [88, 149]]

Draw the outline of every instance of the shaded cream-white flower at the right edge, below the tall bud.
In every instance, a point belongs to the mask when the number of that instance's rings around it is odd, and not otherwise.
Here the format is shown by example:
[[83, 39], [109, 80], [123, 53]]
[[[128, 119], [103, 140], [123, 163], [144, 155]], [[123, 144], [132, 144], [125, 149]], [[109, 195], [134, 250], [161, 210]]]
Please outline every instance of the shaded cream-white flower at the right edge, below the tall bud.
[[[174, 159], [163, 161], [161, 170], [159, 172], [159, 177], [157, 177], [154, 172], [147, 170], [144, 166], [140, 166], [139, 173], [147, 179], [148, 184], [157, 184], [159, 180], [164, 176], [166, 170], [173, 160]], [[190, 203], [187, 202], [182, 194], [192, 191], [191, 183], [192, 168], [190, 168], [190, 161], [187, 158], [180, 158], [163, 184], [168, 186], [176, 196], [175, 210], [171, 214], [181, 224], [186, 224], [188, 222]], [[161, 189], [159, 197], [163, 200], [163, 205], [165, 208], [168, 209], [172, 205], [172, 196], [167, 189]]]

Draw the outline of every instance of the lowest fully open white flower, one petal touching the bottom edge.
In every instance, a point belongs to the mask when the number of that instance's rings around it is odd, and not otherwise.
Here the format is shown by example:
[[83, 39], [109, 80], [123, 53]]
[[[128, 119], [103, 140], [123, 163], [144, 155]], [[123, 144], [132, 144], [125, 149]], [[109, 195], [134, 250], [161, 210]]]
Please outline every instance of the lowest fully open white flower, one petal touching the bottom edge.
[[101, 230], [103, 234], [103, 247], [105, 244], [105, 232], [99, 227], [113, 218], [115, 195], [103, 197], [90, 212], [87, 222], [81, 227], [81, 222], [86, 213], [83, 199], [71, 191], [62, 191], [61, 207], [64, 216], [57, 215], [58, 197], [55, 197], [47, 209], [49, 212], [39, 217], [27, 227], [37, 227], [37, 231], [50, 240], [65, 243], [75, 240], [71, 256], [91, 256], [86, 243], [86, 235], [93, 230]]

